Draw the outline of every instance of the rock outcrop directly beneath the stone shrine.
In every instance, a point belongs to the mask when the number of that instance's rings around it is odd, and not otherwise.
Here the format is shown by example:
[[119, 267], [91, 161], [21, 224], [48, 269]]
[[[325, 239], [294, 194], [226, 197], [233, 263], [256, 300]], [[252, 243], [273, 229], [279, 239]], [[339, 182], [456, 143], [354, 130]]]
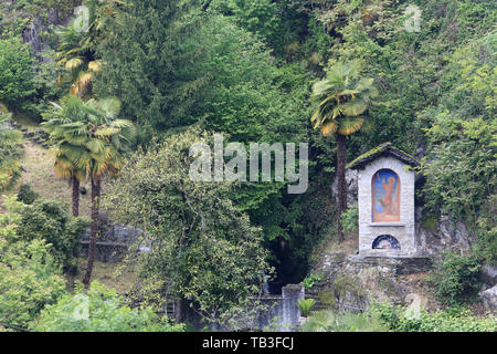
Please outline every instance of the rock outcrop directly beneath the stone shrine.
[[410, 304], [421, 299], [430, 302], [426, 272], [432, 260], [426, 257], [366, 257], [326, 253], [313, 273], [322, 281], [307, 291], [317, 301], [317, 308], [358, 312], [371, 301], [391, 301]]

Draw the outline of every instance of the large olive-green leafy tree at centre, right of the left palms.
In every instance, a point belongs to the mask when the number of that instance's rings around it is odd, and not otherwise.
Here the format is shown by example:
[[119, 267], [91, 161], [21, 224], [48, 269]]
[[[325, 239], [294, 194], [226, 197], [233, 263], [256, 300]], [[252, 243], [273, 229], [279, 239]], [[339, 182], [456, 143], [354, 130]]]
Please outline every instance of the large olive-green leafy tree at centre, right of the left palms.
[[209, 144], [208, 136], [189, 129], [135, 155], [109, 186], [105, 206], [120, 222], [146, 230], [136, 248], [150, 251], [129, 259], [140, 296], [178, 301], [178, 322], [186, 299], [203, 317], [222, 322], [262, 292], [267, 252], [261, 230], [230, 200], [230, 183], [190, 179], [194, 143]]

